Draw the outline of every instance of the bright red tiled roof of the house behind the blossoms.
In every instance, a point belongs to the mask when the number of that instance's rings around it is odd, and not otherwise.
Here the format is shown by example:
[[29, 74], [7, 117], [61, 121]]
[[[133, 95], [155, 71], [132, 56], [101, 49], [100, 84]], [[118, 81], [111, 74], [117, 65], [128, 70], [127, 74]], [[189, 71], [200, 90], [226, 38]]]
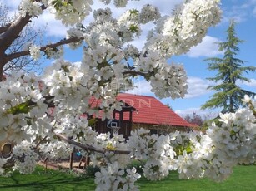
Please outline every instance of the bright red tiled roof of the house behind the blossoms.
[[[133, 112], [133, 123], [193, 126], [153, 96], [138, 96], [122, 93], [118, 95], [118, 100], [123, 100], [123, 102], [136, 109]], [[124, 113], [124, 120], [128, 120], [127, 113]]]

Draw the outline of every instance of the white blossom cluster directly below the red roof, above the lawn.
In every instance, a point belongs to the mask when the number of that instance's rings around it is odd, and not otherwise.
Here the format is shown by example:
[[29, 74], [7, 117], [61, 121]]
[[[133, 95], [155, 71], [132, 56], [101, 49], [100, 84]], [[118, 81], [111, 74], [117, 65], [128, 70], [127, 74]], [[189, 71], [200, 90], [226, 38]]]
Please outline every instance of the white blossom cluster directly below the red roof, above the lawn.
[[170, 170], [177, 169], [176, 153], [171, 146], [173, 139], [172, 135], [149, 135], [149, 131], [143, 129], [132, 132], [128, 149], [131, 150], [131, 158], [146, 161], [143, 174], [147, 179], [163, 179]]

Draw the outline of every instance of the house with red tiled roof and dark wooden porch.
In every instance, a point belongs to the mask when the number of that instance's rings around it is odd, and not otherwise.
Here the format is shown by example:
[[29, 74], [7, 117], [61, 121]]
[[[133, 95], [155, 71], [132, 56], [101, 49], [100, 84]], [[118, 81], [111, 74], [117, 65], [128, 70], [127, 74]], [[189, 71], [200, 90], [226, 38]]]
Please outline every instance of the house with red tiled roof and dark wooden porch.
[[[163, 134], [179, 131], [193, 130], [193, 125], [183, 120], [167, 105], [153, 96], [139, 96], [121, 93], [117, 96], [123, 101], [123, 110], [114, 110], [113, 118], [119, 121], [118, 133], [125, 137], [130, 135], [131, 130], [143, 127], [153, 134]], [[100, 121], [94, 125], [94, 130], [100, 133], [111, 131], [108, 126], [109, 120]]]

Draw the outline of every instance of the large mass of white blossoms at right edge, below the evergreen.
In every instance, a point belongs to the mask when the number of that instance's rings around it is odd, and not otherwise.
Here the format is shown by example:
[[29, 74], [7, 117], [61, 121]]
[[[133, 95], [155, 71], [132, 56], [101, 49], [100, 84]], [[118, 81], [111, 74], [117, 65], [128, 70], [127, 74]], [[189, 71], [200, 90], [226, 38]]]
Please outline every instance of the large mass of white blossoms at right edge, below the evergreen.
[[228, 178], [233, 166], [255, 163], [255, 101], [246, 98], [248, 107], [220, 114], [221, 125], [213, 124], [206, 134], [177, 137], [173, 148], [178, 154], [180, 178], [208, 177], [221, 181]]

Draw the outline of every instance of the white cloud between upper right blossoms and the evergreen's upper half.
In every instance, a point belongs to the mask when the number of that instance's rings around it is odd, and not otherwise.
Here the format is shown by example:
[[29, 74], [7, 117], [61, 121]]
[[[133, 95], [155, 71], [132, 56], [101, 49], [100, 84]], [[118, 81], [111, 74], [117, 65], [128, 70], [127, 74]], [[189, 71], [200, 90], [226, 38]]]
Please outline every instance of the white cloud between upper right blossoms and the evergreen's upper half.
[[221, 41], [216, 37], [206, 36], [203, 38], [203, 41], [199, 43], [196, 47], [192, 47], [186, 55], [189, 57], [210, 57], [220, 55], [223, 52], [218, 51], [218, 44], [216, 42]]

